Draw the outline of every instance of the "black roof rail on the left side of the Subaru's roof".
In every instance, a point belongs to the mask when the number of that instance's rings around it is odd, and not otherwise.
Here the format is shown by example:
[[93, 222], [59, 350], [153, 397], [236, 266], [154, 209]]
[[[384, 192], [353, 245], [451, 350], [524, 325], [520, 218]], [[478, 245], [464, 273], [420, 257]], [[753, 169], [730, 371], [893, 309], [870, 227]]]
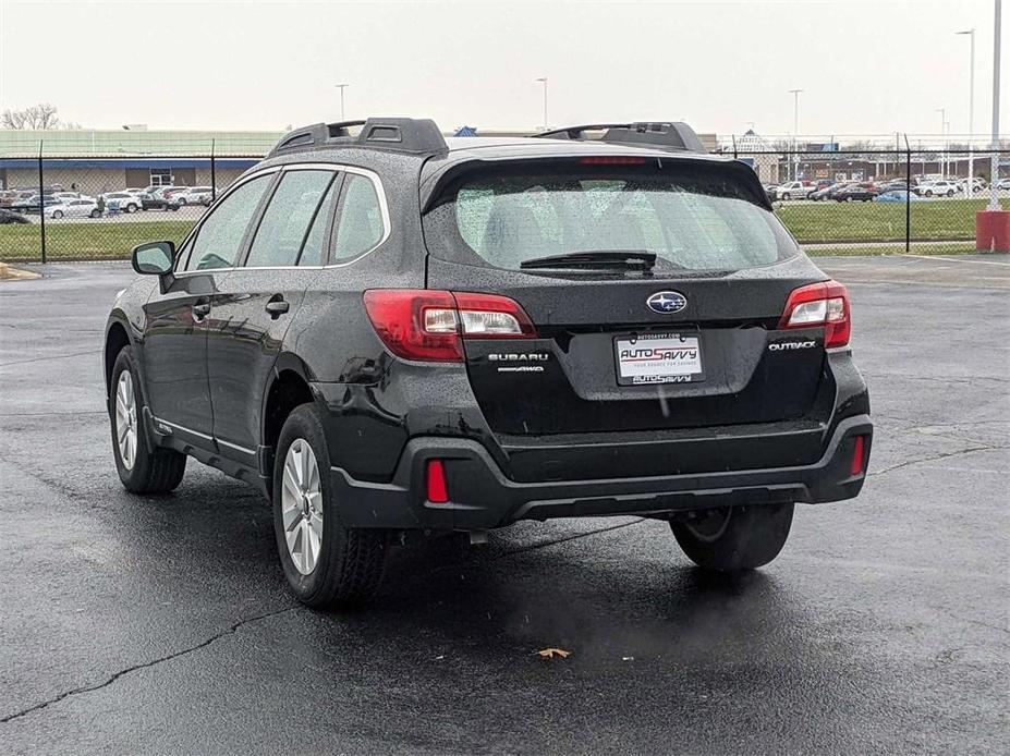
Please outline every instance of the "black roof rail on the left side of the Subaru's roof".
[[[351, 129], [361, 126], [357, 135]], [[314, 123], [284, 134], [267, 155], [272, 158], [319, 147], [364, 147], [415, 155], [431, 155], [449, 149], [435, 121], [413, 118], [369, 118], [366, 121]]]

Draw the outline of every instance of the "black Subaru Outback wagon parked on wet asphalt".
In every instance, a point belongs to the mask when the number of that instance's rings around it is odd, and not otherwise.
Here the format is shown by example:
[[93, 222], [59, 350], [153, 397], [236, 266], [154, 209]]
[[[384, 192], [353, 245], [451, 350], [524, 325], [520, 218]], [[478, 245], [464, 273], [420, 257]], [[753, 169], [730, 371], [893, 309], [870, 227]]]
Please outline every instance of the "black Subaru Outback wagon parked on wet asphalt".
[[133, 265], [105, 347], [124, 486], [194, 456], [259, 487], [313, 606], [367, 596], [407, 532], [518, 520], [655, 517], [753, 569], [795, 502], [863, 486], [848, 293], [683, 123], [300, 129]]

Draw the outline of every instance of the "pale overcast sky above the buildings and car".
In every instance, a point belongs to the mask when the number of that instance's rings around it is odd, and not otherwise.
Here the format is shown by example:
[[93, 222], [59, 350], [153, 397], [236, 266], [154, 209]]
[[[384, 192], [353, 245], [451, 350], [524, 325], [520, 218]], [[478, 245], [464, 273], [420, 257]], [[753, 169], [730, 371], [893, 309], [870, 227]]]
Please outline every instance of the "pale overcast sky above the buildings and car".
[[[58, 2], [0, 0], [0, 109], [86, 127], [284, 129], [426, 115], [443, 127], [681, 119], [697, 131], [990, 129], [993, 0]], [[1010, 9], [1003, 17], [1006, 31]], [[1005, 37], [1003, 60], [1010, 57]], [[1003, 65], [1003, 83], [1010, 81]], [[1001, 132], [1010, 131], [1002, 97]]]

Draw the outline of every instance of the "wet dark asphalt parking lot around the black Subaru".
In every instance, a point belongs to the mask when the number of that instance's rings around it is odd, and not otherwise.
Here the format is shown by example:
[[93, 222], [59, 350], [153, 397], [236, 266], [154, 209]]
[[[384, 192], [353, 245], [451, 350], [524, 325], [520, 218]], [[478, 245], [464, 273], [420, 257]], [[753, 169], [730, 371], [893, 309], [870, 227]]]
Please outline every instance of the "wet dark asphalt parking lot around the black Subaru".
[[252, 489], [193, 461], [173, 496], [121, 488], [127, 264], [0, 283], [0, 753], [1007, 753], [1010, 259], [820, 265], [869, 479], [798, 508], [768, 568], [706, 578], [659, 522], [528, 523], [398, 551], [350, 615], [288, 595]]

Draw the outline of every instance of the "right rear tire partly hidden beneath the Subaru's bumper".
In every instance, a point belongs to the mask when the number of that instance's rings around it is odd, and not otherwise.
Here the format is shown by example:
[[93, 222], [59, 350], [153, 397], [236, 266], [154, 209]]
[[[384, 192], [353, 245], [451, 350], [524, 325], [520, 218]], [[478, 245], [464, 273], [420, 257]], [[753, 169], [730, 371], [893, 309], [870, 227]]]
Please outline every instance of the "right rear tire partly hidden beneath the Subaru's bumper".
[[779, 556], [789, 538], [793, 504], [711, 510], [670, 528], [687, 558], [703, 570], [742, 572]]

